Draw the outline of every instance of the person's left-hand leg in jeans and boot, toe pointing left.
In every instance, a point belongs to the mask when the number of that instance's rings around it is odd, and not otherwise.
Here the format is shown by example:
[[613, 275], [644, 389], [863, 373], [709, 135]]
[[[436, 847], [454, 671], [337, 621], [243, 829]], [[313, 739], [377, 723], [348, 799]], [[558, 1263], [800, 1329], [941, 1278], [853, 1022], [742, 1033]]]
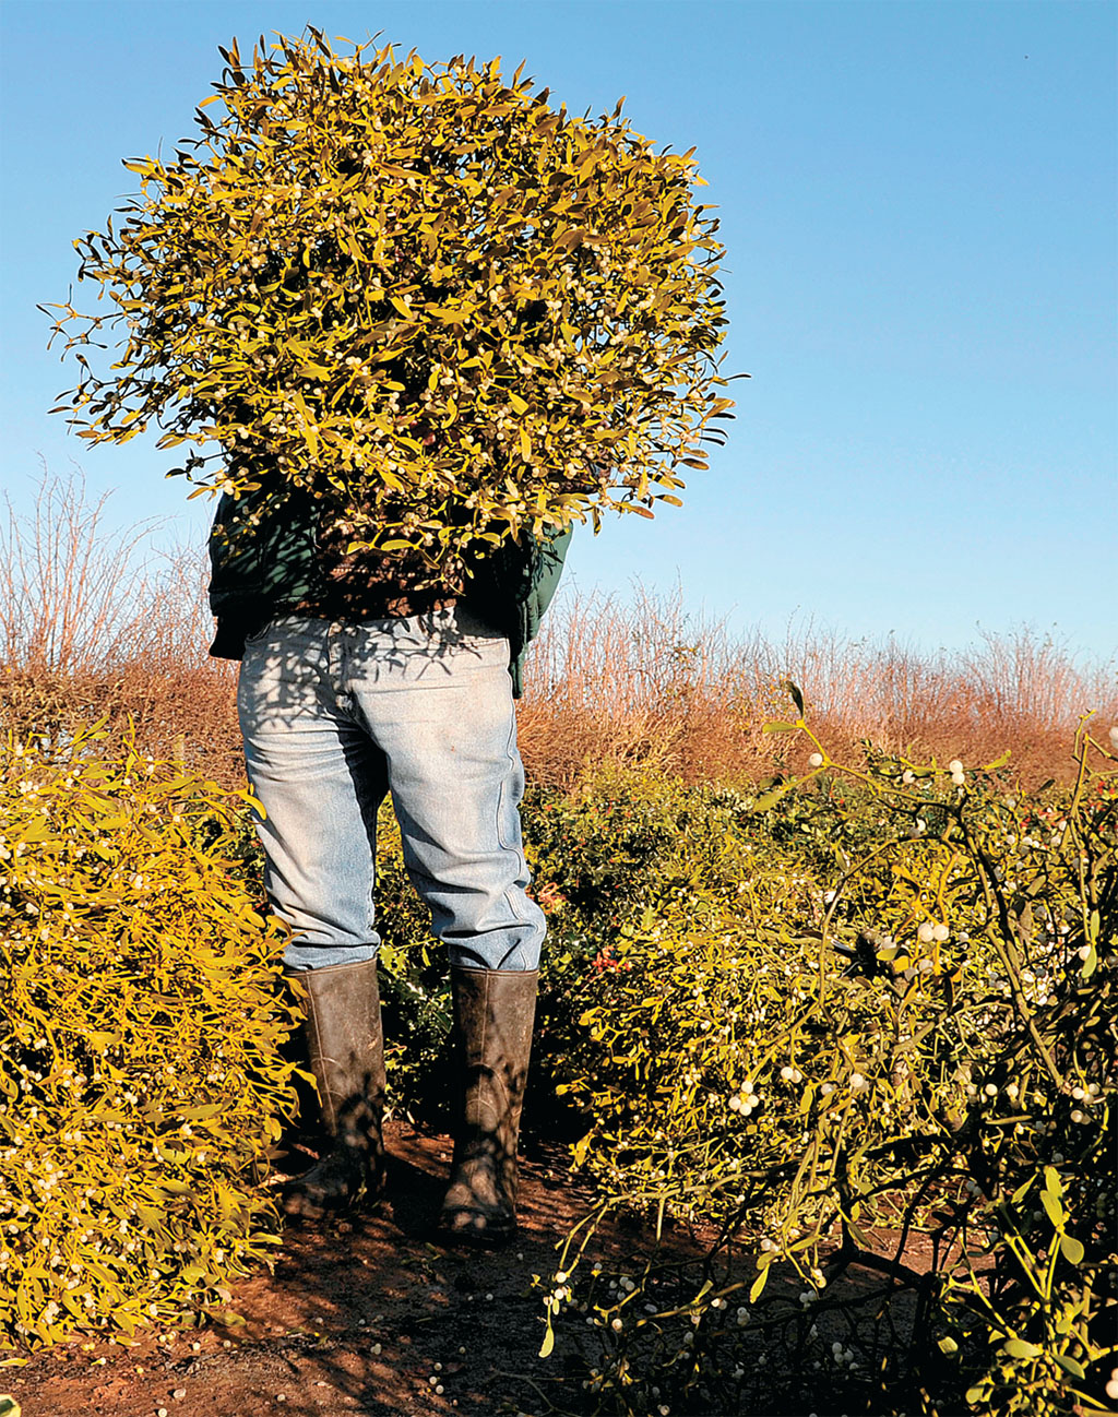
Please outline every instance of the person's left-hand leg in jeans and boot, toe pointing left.
[[245, 649], [238, 710], [265, 884], [292, 934], [283, 964], [305, 1003], [306, 1041], [333, 1146], [283, 1186], [316, 1219], [383, 1186], [384, 1039], [373, 924], [384, 757], [339, 691], [337, 626], [282, 618]]

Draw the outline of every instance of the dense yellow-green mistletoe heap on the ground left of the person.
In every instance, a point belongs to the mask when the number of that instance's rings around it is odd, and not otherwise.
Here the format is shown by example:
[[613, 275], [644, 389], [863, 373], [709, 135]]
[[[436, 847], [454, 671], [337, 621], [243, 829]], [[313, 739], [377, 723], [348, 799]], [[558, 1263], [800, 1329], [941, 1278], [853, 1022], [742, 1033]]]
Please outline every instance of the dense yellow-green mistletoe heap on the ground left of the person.
[[276, 1243], [295, 1105], [235, 798], [98, 728], [0, 761], [0, 1333], [188, 1322]]

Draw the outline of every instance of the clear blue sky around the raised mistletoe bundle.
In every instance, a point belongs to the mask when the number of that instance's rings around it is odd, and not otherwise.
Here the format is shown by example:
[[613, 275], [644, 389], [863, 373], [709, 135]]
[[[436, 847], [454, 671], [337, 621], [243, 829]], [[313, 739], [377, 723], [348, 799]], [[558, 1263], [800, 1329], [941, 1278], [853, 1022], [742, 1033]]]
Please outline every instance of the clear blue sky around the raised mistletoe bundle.
[[[1118, 648], [1115, 24], [1109, 0], [6, 0], [3, 452], [116, 516], [208, 504], [156, 436], [89, 449], [35, 302], [135, 190], [123, 157], [193, 136], [218, 44], [310, 21], [429, 61], [503, 57], [568, 109], [697, 146], [720, 207], [737, 422], [683, 510], [575, 534], [582, 589], [633, 580], [782, 632], [914, 645], [1030, 623]], [[82, 295], [84, 288], [75, 289]], [[81, 302], [78, 302], [81, 303]]]

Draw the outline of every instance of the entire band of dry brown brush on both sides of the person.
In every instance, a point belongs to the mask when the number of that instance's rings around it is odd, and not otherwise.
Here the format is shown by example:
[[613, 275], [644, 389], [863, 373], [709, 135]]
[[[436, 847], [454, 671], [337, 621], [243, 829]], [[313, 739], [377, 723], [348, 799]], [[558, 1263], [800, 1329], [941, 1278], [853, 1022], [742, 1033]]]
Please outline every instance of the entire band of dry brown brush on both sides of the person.
[[[235, 665], [210, 659], [205, 561], [156, 551], [159, 527], [105, 526], [108, 497], [44, 473], [30, 517], [0, 527], [0, 687], [7, 724], [65, 735], [78, 720], [135, 720], [145, 745], [230, 785], [242, 781]], [[1024, 786], [1071, 775], [1080, 714], [1118, 720], [1115, 660], [1084, 663], [1030, 629], [927, 656], [896, 639], [853, 640], [806, 622], [779, 643], [734, 636], [684, 595], [628, 604], [560, 594], [520, 706], [537, 779], [568, 784], [587, 762], [642, 762], [687, 781], [755, 781], [806, 754], [762, 733], [802, 689], [833, 757], [863, 744], [968, 767], [1012, 752]], [[789, 754], [782, 760], [779, 754]]]

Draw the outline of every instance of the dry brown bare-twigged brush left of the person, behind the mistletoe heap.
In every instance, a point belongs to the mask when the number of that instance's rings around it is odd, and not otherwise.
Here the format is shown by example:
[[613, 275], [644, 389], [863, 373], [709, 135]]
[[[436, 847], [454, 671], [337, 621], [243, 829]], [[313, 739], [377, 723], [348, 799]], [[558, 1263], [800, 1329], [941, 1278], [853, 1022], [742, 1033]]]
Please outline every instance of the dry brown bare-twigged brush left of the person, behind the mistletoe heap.
[[44, 470], [34, 509], [0, 526], [0, 701], [9, 728], [65, 741], [75, 724], [129, 718], [142, 745], [218, 781], [244, 779], [235, 673], [210, 659], [205, 570], [157, 551], [146, 521], [108, 527], [111, 493]]

